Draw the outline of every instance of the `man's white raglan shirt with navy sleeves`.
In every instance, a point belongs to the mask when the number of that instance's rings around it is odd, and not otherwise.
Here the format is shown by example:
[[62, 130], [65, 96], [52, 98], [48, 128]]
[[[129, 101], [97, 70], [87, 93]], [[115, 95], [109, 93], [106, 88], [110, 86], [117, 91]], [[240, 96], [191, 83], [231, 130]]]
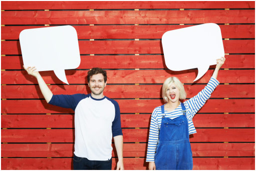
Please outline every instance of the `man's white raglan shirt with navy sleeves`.
[[112, 136], [123, 135], [118, 103], [91, 94], [53, 95], [49, 104], [75, 111], [75, 155], [89, 160], [112, 157]]

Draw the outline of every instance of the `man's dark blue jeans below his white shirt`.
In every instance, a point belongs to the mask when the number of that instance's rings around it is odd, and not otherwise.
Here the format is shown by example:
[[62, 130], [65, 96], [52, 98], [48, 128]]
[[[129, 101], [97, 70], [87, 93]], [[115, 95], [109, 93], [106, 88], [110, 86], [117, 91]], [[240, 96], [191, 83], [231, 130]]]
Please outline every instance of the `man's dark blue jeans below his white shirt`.
[[84, 157], [73, 157], [74, 170], [111, 170], [112, 158], [106, 161], [89, 160]]

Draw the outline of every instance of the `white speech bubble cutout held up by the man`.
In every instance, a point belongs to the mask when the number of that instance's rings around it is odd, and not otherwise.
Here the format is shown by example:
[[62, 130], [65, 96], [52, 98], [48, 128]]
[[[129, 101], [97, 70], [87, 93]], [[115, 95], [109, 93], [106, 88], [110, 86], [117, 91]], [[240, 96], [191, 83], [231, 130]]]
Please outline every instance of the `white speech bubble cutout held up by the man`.
[[25, 67], [54, 70], [67, 84], [65, 69], [77, 68], [81, 62], [77, 31], [71, 25], [24, 29], [20, 44]]

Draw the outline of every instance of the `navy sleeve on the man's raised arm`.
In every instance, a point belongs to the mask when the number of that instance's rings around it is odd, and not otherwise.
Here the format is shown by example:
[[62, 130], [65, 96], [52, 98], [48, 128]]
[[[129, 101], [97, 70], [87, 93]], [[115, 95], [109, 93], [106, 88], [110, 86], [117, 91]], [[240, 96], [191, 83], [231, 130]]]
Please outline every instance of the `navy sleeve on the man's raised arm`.
[[81, 99], [86, 98], [88, 95], [86, 94], [73, 94], [73, 95], [66, 95], [66, 94], [59, 94], [53, 95], [49, 104], [57, 105], [60, 107], [65, 108], [72, 108], [74, 111], [77, 107], [77, 104]]

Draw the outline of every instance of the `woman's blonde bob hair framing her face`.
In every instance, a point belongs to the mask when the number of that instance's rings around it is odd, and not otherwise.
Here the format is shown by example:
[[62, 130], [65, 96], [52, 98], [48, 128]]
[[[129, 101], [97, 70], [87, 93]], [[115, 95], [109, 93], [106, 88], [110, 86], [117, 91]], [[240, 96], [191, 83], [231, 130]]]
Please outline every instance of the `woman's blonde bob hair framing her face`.
[[168, 89], [168, 87], [172, 84], [172, 83], [175, 83], [177, 85], [177, 87], [179, 88], [179, 99], [185, 99], [187, 94], [185, 92], [185, 89], [184, 89], [184, 86], [183, 84], [180, 82], [180, 80], [175, 77], [175, 76], [172, 76], [172, 77], [168, 77], [164, 83], [163, 83], [163, 90], [162, 90], [162, 96], [163, 96], [163, 100], [165, 102], [168, 102], [169, 99], [168, 97], [166, 96], [166, 91]]

